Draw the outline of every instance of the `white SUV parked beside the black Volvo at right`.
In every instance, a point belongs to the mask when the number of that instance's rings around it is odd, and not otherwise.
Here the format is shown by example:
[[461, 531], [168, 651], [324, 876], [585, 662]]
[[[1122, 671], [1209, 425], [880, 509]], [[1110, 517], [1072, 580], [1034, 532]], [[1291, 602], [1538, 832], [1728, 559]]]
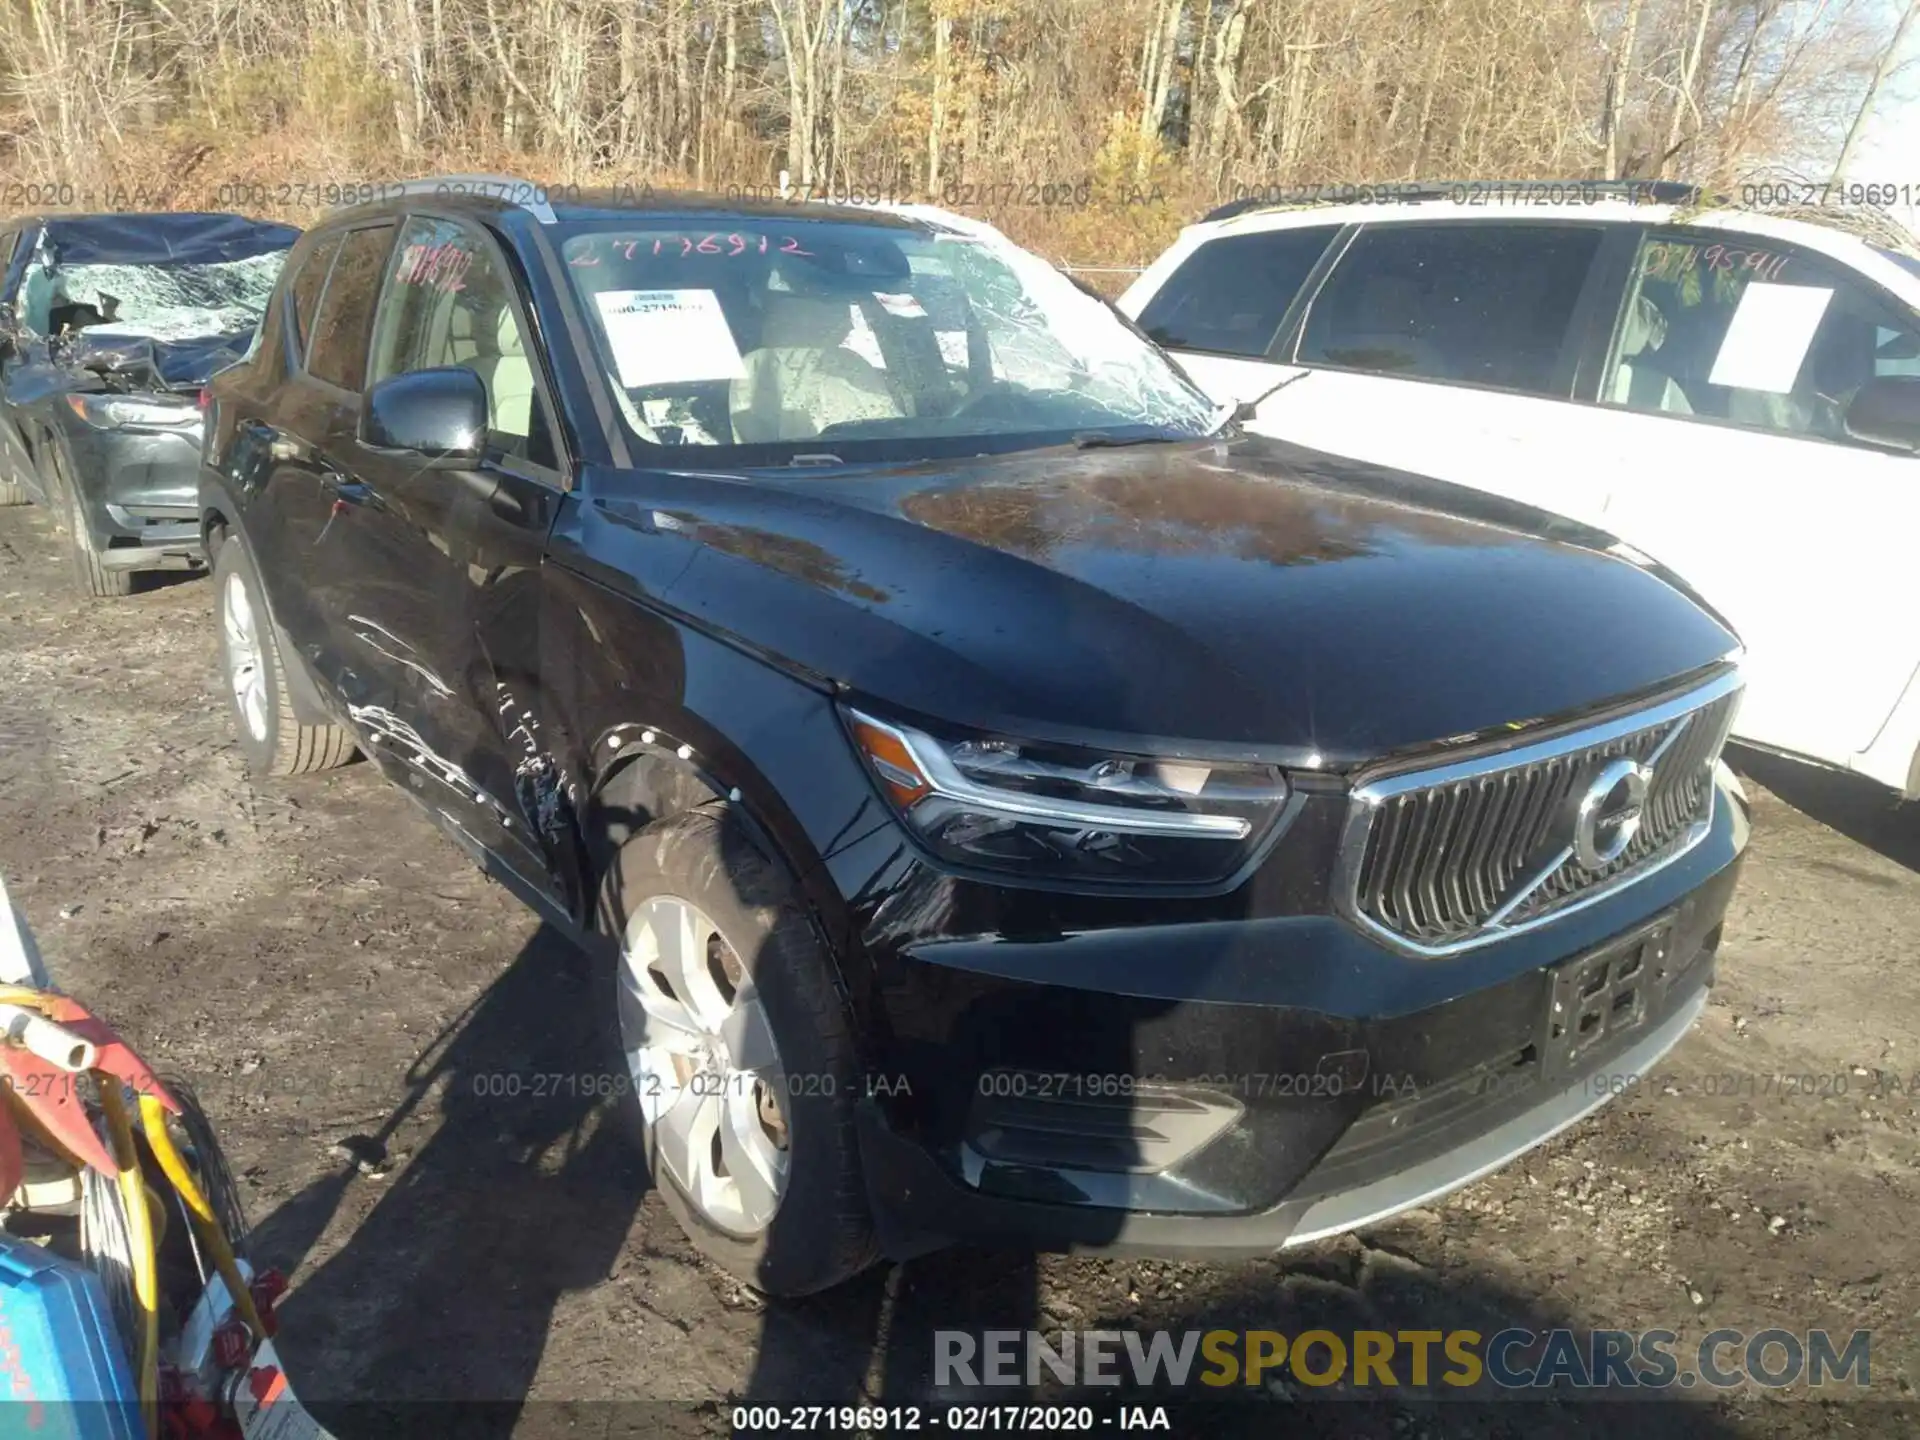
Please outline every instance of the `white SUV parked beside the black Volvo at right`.
[[1227, 205], [1119, 307], [1260, 434], [1653, 555], [1747, 645], [1740, 739], [1920, 799], [1920, 259], [1538, 190]]

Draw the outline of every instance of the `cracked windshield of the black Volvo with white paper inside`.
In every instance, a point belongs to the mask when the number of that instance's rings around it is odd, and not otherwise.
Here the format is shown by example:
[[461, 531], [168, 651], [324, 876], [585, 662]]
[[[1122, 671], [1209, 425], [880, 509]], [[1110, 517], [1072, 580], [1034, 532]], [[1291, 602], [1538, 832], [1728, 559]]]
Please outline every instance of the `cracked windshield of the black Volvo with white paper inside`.
[[649, 444], [1183, 438], [1215, 417], [1104, 301], [1010, 246], [793, 221], [584, 230], [564, 257]]

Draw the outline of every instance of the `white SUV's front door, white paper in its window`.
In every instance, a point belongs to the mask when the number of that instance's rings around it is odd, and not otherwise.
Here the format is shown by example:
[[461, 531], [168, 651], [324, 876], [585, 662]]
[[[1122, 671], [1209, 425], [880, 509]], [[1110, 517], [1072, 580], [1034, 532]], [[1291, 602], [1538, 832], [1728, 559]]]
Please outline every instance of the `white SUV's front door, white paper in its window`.
[[1920, 457], [1860, 444], [1862, 384], [1920, 374], [1920, 313], [1830, 255], [1651, 230], [1601, 384], [1605, 522], [1684, 574], [1747, 645], [1736, 733], [1834, 764], [1920, 666]]

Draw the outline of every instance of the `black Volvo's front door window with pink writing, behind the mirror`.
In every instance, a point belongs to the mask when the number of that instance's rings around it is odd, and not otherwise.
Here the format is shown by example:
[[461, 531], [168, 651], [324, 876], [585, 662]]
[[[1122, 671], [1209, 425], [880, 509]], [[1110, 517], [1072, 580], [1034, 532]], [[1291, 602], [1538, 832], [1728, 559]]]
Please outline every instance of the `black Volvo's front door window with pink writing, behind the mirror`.
[[555, 465], [511, 278], [465, 225], [415, 217], [394, 248], [367, 382], [442, 365], [480, 376], [495, 449]]

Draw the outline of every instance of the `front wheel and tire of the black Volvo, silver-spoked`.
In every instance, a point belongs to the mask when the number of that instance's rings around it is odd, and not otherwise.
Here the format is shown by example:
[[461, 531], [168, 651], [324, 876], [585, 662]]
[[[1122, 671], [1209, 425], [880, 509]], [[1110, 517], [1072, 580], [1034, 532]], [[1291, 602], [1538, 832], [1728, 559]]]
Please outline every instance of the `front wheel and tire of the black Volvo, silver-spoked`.
[[[649, 947], [649, 931], [687, 910], [695, 931], [707, 933], [693, 952], [705, 960], [712, 991], [697, 977], [682, 981], [695, 1000], [682, 1006], [682, 1018], [693, 1020], [703, 998], [720, 996], [728, 1002], [728, 1033], [739, 1043], [718, 1041], [724, 1046], [712, 1062], [718, 1069], [699, 1071], [705, 1081], [695, 1075], [676, 1083], [674, 1071], [662, 1079], [660, 1052], [639, 1046], [643, 1039], [680, 1033], [649, 1012], [639, 995], [651, 987], [649, 998], [660, 1006], [657, 977], [668, 970], [680, 973], [666, 947]], [[747, 839], [726, 806], [701, 806], [647, 826], [620, 847], [601, 885], [599, 918], [620, 947], [614, 972], [620, 1108], [655, 1188], [687, 1238], [724, 1271], [772, 1296], [826, 1290], [874, 1263], [877, 1244], [854, 1139], [862, 1071], [829, 958], [785, 870]], [[657, 956], [651, 968], [647, 954]], [[758, 1039], [756, 1025], [741, 1020], [753, 1006], [766, 1021]], [[708, 1035], [708, 1044], [714, 1039]], [[766, 1058], [766, 1039], [772, 1066], [756, 1064]], [[637, 1064], [630, 1060], [636, 1052]], [[703, 1127], [689, 1117], [708, 1114], [712, 1140], [680, 1146], [674, 1131], [701, 1135]], [[728, 1129], [728, 1119], [739, 1121], [739, 1129]], [[747, 1204], [749, 1190], [764, 1187], [732, 1179], [726, 1165], [747, 1148], [764, 1154], [753, 1139], [755, 1123], [776, 1154], [783, 1150], [774, 1208], [760, 1223], [741, 1212], [755, 1210]], [[732, 1152], [724, 1148], [724, 1129]], [[747, 1139], [739, 1139], [743, 1133]], [[695, 1185], [676, 1175], [676, 1148], [682, 1169], [695, 1164], [689, 1152], [705, 1152]], [[728, 1175], [718, 1175], [722, 1169]], [[739, 1192], [739, 1208], [726, 1202], [728, 1185]], [[695, 1190], [705, 1198], [695, 1198]]]

